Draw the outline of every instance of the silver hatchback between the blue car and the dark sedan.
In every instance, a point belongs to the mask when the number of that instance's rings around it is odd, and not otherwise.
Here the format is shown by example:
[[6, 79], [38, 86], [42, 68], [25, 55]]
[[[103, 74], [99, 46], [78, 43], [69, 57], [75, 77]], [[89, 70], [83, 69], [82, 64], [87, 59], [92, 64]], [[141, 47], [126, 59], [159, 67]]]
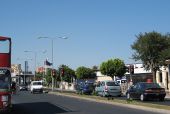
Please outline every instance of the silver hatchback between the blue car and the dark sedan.
[[98, 82], [95, 88], [96, 94], [100, 96], [121, 96], [120, 85], [112, 80]]

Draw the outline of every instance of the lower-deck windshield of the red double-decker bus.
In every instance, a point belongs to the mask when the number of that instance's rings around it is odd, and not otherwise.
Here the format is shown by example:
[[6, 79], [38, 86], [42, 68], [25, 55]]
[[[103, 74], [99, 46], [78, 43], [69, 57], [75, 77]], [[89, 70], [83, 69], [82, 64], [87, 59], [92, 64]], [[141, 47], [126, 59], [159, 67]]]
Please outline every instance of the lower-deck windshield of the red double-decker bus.
[[0, 89], [10, 88], [10, 71], [6, 69], [0, 69]]

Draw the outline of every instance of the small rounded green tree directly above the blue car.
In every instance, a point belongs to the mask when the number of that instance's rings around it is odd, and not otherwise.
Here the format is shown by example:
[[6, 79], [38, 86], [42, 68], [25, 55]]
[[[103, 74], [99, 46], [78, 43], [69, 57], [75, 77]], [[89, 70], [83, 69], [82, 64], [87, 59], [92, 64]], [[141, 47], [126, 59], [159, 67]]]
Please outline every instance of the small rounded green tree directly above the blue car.
[[87, 79], [87, 78], [95, 78], [96, 74], [94, 70], [81, 66], [76, 69], [77, 79]]

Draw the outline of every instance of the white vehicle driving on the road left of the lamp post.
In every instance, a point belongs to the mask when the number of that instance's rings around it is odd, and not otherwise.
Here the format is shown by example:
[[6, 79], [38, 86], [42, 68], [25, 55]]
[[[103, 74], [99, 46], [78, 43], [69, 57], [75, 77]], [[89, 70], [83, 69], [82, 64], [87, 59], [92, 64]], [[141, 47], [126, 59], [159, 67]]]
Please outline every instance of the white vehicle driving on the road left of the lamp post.
[[30, 85], [31, 93], [43, 93], [43, 84], [42, 81], [32, 81]]

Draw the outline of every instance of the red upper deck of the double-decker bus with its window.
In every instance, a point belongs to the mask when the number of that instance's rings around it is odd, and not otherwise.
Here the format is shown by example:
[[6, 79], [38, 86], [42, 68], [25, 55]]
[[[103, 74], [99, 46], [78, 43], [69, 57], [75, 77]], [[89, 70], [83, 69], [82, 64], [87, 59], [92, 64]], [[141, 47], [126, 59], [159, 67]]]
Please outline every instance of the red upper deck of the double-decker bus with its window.
[[0, 67], [11, 68], [11, 38], [0, 36]]

